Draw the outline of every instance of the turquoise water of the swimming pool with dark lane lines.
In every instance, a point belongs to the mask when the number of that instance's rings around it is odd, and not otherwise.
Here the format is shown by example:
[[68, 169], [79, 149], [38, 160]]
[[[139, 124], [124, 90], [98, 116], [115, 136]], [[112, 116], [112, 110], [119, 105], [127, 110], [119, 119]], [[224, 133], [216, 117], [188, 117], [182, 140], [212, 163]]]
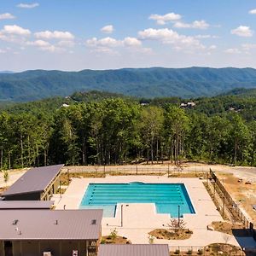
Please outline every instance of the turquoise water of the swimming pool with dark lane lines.
[[158, 213], [171, 217], [195, 213], [183, 183], [90, 183], [80, 209], [103, 209], [104, 217], [114, 217], [117, 203], [154, 203]]

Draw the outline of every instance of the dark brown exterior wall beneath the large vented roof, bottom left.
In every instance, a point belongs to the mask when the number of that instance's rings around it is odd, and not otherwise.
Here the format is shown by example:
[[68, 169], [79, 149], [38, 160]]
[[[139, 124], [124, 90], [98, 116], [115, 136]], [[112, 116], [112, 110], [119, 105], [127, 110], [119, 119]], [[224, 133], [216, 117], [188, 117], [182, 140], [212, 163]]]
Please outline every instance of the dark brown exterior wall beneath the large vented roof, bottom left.
[[[79, 251], [79, 256], [94, 256], [87, 253], [89, 241], [13, 241], [13, 256], [43, 256], [51, 252], [52, 256], [72, 256], [73, 250]], [[0, 241], [0, 255], [4, 255], [3, 241]]]

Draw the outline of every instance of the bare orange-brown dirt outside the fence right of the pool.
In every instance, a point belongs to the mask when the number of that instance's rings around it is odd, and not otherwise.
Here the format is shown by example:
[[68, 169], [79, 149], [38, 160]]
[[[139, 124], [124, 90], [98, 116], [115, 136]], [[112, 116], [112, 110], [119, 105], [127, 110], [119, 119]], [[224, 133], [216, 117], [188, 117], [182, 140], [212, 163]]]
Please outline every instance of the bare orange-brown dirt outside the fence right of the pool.
[[256, 205], [256, 181], [253, 176], [246, 177], [244, 173], [236, 172], [234, 174], [216, 172], [216, 175], [239, 207], [247, 212], [248, 217], [255, 223], [256, 211], [253, 210], [253, 205]]

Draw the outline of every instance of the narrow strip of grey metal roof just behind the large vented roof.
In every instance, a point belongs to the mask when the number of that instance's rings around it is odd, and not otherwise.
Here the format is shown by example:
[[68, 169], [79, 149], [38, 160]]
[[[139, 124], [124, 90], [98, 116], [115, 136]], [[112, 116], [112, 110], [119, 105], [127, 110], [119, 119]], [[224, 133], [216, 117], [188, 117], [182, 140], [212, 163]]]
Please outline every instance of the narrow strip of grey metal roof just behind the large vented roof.
[[50, 209], [54, 201], [0, 201], [0, 210]]

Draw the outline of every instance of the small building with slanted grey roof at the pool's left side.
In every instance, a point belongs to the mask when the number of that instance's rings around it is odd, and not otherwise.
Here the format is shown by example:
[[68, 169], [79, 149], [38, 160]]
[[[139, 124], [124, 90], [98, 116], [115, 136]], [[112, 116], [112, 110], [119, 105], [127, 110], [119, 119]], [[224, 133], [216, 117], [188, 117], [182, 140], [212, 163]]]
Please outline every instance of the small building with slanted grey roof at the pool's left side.
[[49, 200], [60, 186], [64, 165], [32, 168], [25, 172], [9, 189], [3, 192], [5, 201]]

